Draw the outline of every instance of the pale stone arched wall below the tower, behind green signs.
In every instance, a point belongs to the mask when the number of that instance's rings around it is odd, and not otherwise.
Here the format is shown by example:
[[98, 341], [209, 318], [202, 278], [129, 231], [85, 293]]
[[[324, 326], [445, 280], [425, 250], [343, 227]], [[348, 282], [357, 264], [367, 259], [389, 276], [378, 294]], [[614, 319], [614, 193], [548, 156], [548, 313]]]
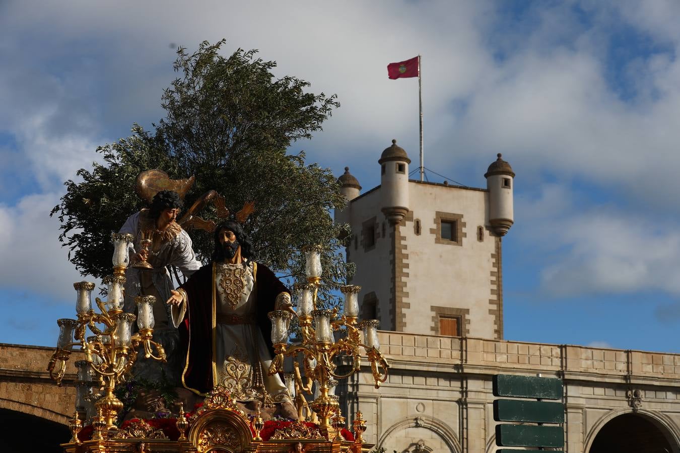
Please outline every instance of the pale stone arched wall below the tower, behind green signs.
[[[607, 422], [636, 414], [680, 452], [680, 355], [396, 332], [380, 340], [392, 365], [387, 382], [376, 390], [365, 367], [341, 392], [358, 400], [344, 409], [349, 420], [362, 410], [364, 437], [390, 453], [418, 451], [419, 440], [422, 451], [495, 452], [492, 377], [537, 373], [564, 376], [564, 451], [588, 452]], [[636, 410], [630, 388], [641, 390]]]

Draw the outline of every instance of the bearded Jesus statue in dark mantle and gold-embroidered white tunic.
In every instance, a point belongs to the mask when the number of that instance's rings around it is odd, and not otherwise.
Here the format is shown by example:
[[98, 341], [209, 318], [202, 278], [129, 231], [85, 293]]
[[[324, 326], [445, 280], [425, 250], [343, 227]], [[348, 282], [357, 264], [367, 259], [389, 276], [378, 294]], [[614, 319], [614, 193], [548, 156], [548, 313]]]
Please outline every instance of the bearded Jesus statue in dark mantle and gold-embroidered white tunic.
[[290, 394], [277, 375], [267, 376], [273, 357], [271, 310], [291, 310], [290, 292], [263, 264], [241, 223], [215, 230], [211, 261], [172, 291], [172, 320], [186, 333], [182, 384], [198, 395], [224, 385], [237, 401], [280, 405], [296, 418]]

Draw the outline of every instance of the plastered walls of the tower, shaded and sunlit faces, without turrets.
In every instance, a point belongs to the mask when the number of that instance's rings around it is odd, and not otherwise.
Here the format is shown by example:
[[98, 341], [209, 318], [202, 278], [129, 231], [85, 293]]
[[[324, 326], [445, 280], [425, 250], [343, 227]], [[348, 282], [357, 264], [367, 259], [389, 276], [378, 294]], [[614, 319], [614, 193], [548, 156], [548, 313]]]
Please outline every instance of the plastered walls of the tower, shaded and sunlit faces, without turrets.
[[[393, 162], [388, 162], [393, 163]], [[397, 263], [397, 278], [406, 283], [403, 298], [406, 302], [405, 328], [411, 333], [434, 333], [435, 312], [431, 306], [459, 308], [469, 310], [467, 323], [460, 329], [469, 335], [484, 338], [498, 337], [498, 319], [489, 310], [496, 308], [490, 299], [498, 296], [500, 289], [494, 283], [497, 277], [494, 266], [497, 238], [488, 229], [488, 192], [482, 189], [465, 189], [462, 187], [409, 182], [409, 215], [399, 228], [405, 240], [403, 262]], [[381, 328], [395, 329], [392, 320], [387, 316], [392, 308], [389, 304], [392, 290], [392, 274], [390, 264], [392, 240], [390, 230], [381, 213], [380, 195], [383, 187], [364, 194], [351, 202], [351, 209], [345, 210], [350, 217], [348, 223], [352, 227], [352, 241], [349, 260], [356, 264], [357, 272], [352, 280], [361, 285], [359, 302], [364, 295], [376, 293], [381, 314]], [[435, 242], [437, 228], [437, 212], [462, 215], [464, 224], [461, 245]], [[377, 219], [375, 248], [364, 251], [361, 244], [362, 228], [365, 221]], [[346, 217], [343, 217], [346, 219]], [[415, 221], [420, 221], [420, 234], [415, 233]], [[385, 226], [383, 226], [385, 224]], [[477, 239], [477, 228], [483, 228], [483, 240]], [[383, 232], [385, 233], [383, 235]], [[500, 307], [498, 307], [500, 308]]]

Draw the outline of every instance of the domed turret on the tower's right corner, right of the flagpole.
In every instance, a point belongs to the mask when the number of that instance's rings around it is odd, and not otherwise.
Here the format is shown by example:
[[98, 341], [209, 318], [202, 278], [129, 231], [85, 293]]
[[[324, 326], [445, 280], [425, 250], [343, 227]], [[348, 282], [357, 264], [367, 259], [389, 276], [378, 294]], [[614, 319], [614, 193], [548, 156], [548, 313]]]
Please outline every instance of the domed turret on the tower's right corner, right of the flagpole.
[[515, 173], [510, 164], [501, 159], [493, 162], [486, 173], [486, 187], [489, 190], [489, 223], [498, 236], [505, 236], [515, 221], [513, 214], [513, 178]]

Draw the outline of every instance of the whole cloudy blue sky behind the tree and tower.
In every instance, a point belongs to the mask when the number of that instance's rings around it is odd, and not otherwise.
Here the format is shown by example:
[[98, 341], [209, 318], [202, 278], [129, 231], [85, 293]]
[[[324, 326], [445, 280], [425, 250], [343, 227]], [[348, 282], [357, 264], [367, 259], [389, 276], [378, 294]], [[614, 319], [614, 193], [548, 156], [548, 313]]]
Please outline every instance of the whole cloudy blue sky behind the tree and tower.
[[485, 187], [496, 153], [516, 173], [505, 338], [680, 352], [678, 17], [673, 0], [0, 1], [0, 342], [55, 344], [83, 279], [49, 217], [63, 182], [163, 117], [177, 46], [225, 38], [337, 94], [290, 152], [364, 190], [392, 139], [418, 166], [418, 79], [386, 65], [421, 54], [428, 180]]

